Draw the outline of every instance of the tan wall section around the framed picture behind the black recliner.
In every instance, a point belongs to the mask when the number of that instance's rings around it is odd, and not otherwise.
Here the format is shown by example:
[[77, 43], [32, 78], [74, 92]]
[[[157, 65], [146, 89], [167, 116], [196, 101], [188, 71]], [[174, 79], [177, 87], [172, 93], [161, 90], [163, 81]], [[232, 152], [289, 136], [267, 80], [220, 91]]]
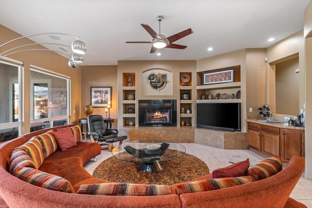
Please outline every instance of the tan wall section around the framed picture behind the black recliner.
[[[83, 108], [91, 104], [91, 87], [112, 87], [110, 117], [115, 118], [112, 128], [117, 129], [117, 66], [82, 66], [81, 77], [81, 118], [87, 117], [83, 113]], [[103, 117], [106, 115], [104, 108], [93, 108], [93, 114], [100, 114]]]

